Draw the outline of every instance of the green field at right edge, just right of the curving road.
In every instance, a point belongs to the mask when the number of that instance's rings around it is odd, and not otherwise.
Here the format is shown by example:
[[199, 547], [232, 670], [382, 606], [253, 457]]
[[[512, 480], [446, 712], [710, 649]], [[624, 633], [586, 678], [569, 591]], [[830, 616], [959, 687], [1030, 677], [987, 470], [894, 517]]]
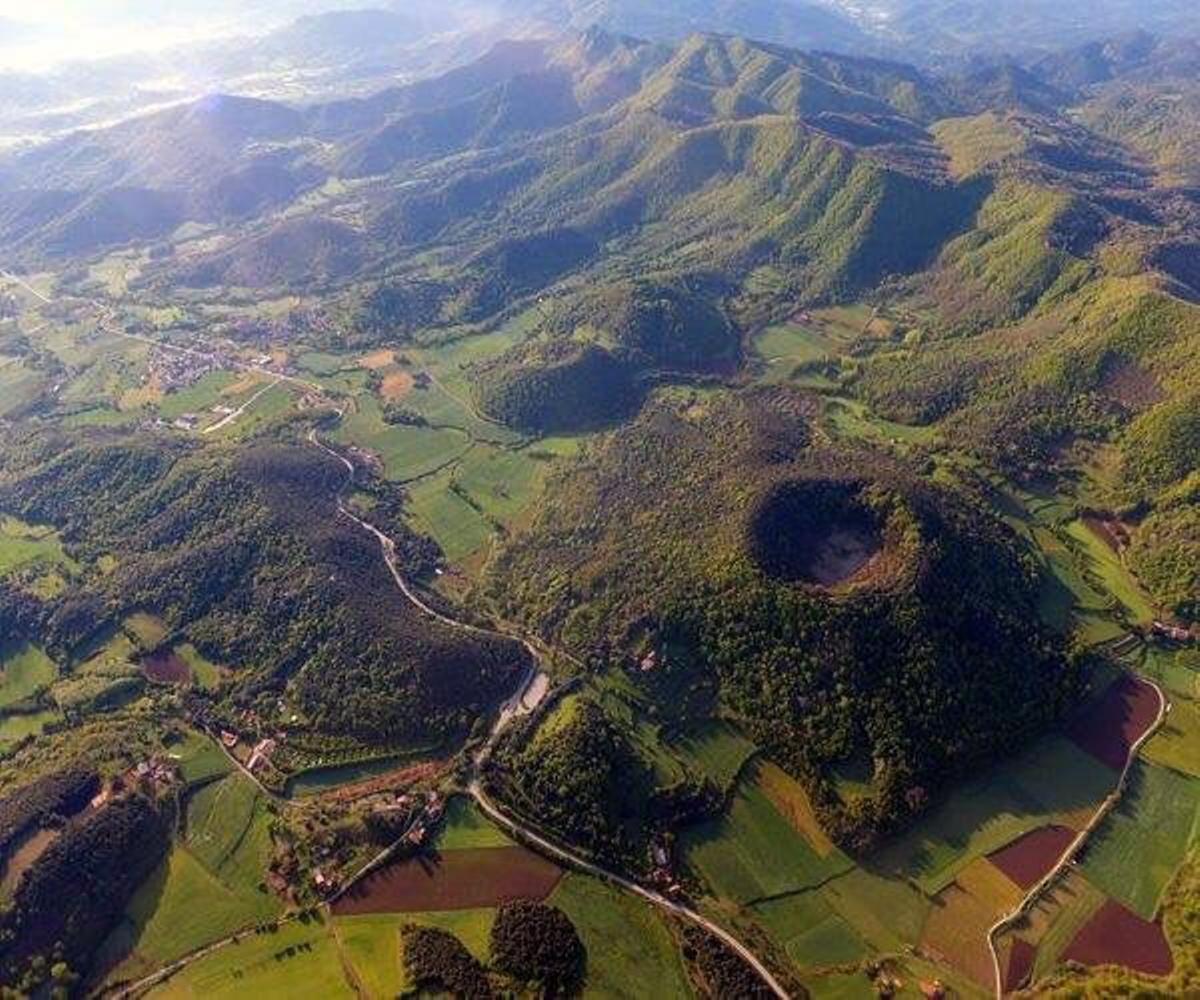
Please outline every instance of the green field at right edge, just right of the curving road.
[[1200, 780], [1136, 764], [1121, 803], [1084, 855], [1082, 874], [1146, 920], [1200, 832]]

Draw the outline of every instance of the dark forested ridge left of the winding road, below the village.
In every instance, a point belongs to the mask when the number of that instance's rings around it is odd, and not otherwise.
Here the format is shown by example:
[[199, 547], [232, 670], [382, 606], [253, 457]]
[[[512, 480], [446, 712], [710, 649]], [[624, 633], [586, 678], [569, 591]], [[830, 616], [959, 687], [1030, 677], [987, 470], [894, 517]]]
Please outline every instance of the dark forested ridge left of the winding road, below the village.
[[427, 741], [464, 732], [523, 669], [516, 643], [421, 619], [378, 545], [334, 516], [346, 472], [302, 445], [199, 453], [101, 435], [0, 484], [0, 505], [52, 523], [108, 576], [43, 612], [66, 659], [138, 610], [239, 667], [238, 700], [281, 694], [329, 732]]

